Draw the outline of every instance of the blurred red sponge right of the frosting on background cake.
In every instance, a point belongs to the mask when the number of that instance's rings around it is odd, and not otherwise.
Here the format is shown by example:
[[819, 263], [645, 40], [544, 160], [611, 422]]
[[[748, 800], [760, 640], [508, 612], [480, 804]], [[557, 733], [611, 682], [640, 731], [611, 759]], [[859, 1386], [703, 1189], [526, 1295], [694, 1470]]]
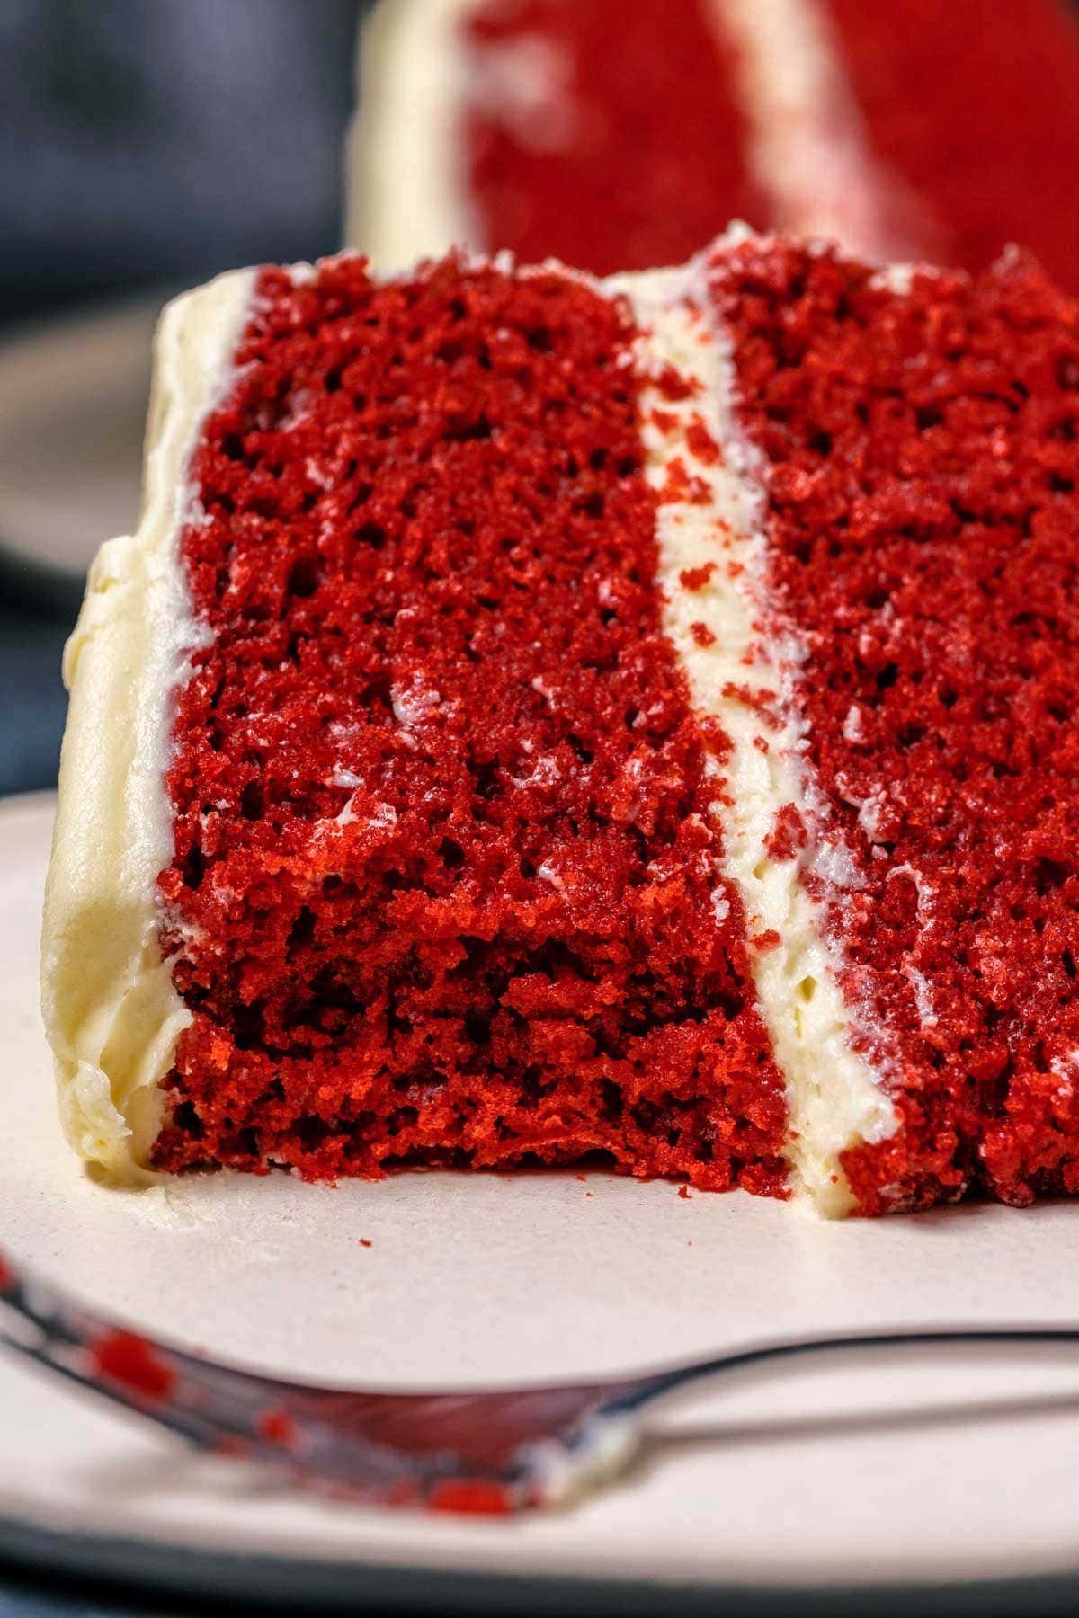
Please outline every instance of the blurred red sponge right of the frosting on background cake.
[[1079, 29], [1063, 0], [827, 0], [827, 15], [874, 154], [924, 214], [917, 257], [980, 270], [1018, 241], [1079, 291]]

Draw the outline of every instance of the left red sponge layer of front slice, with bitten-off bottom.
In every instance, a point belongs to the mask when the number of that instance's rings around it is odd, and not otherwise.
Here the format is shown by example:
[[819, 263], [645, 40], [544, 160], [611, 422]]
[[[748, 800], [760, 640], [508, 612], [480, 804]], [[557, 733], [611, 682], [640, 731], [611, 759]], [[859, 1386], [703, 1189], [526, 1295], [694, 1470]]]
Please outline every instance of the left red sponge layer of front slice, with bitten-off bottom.
[[193, 463], [168, 1170], [607, 1152], [781, 1194], [783, 1086], [660, 634], [626, 311], [267, 270]]

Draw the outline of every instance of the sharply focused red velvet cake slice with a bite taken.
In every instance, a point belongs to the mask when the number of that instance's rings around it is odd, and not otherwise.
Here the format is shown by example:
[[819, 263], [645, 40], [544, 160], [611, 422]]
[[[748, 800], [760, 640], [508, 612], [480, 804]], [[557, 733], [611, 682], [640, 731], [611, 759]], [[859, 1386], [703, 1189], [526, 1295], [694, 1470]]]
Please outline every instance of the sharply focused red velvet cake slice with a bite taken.
[[1077, 481], [1018, 256], [180, 299], [66, 663], [76, 1150], [1079, 1189]]

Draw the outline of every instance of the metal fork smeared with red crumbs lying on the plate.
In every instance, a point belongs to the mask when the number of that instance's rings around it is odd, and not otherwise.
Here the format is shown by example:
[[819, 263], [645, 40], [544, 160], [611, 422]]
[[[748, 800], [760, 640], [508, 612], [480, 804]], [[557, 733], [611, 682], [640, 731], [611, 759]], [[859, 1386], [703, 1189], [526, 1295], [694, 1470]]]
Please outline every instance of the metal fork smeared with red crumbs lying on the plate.
[[620, 1472], [665, 1395], [765, 1361], [895, 1345], [1079, 1343], [1079, 1327], [786, 1338], [607, 1382], [377, 1393], [262, 1377], [133, 1332], [0, 1254], [0, 1343], [199, 1450], [377, 1505], [510, 1516]]

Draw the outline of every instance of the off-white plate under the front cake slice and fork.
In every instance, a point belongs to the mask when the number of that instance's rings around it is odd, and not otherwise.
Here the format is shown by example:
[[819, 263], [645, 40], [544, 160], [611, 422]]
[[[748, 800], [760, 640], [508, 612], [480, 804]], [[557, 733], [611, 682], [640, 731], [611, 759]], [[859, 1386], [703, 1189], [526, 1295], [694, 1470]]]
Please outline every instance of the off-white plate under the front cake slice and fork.
[[[60, 1139], [39, 1029], [50, 817], [47, 798], [0, 809], [0, 1233], [149, 1332], [296, 1377], [408, 1388], [579, 1379], [788, 1330], [1079, 1315], [1079, 1207], [1063, 1204], [825, 1225], [603, 1173], [105, 1191]], [[248, 1594], [370, 1599], [401, 1576], [430, 1595], [466, 1574], [487, 1600], [556, 1581], [599, 1612], [600, 1586], [581, 1581], [715, 1600], [734, 1586], [838, 1595], [1079, 1569], [1074, 1351], [867, 1358], [718, 1387], [665, 1417], [624, 1484], [513, 1523], [259, 1485], [5, 1361], [0, 1417], [0, 1548], [49, 1544]], [[629, 1600], [623, 1586], [616, 1603]]]

